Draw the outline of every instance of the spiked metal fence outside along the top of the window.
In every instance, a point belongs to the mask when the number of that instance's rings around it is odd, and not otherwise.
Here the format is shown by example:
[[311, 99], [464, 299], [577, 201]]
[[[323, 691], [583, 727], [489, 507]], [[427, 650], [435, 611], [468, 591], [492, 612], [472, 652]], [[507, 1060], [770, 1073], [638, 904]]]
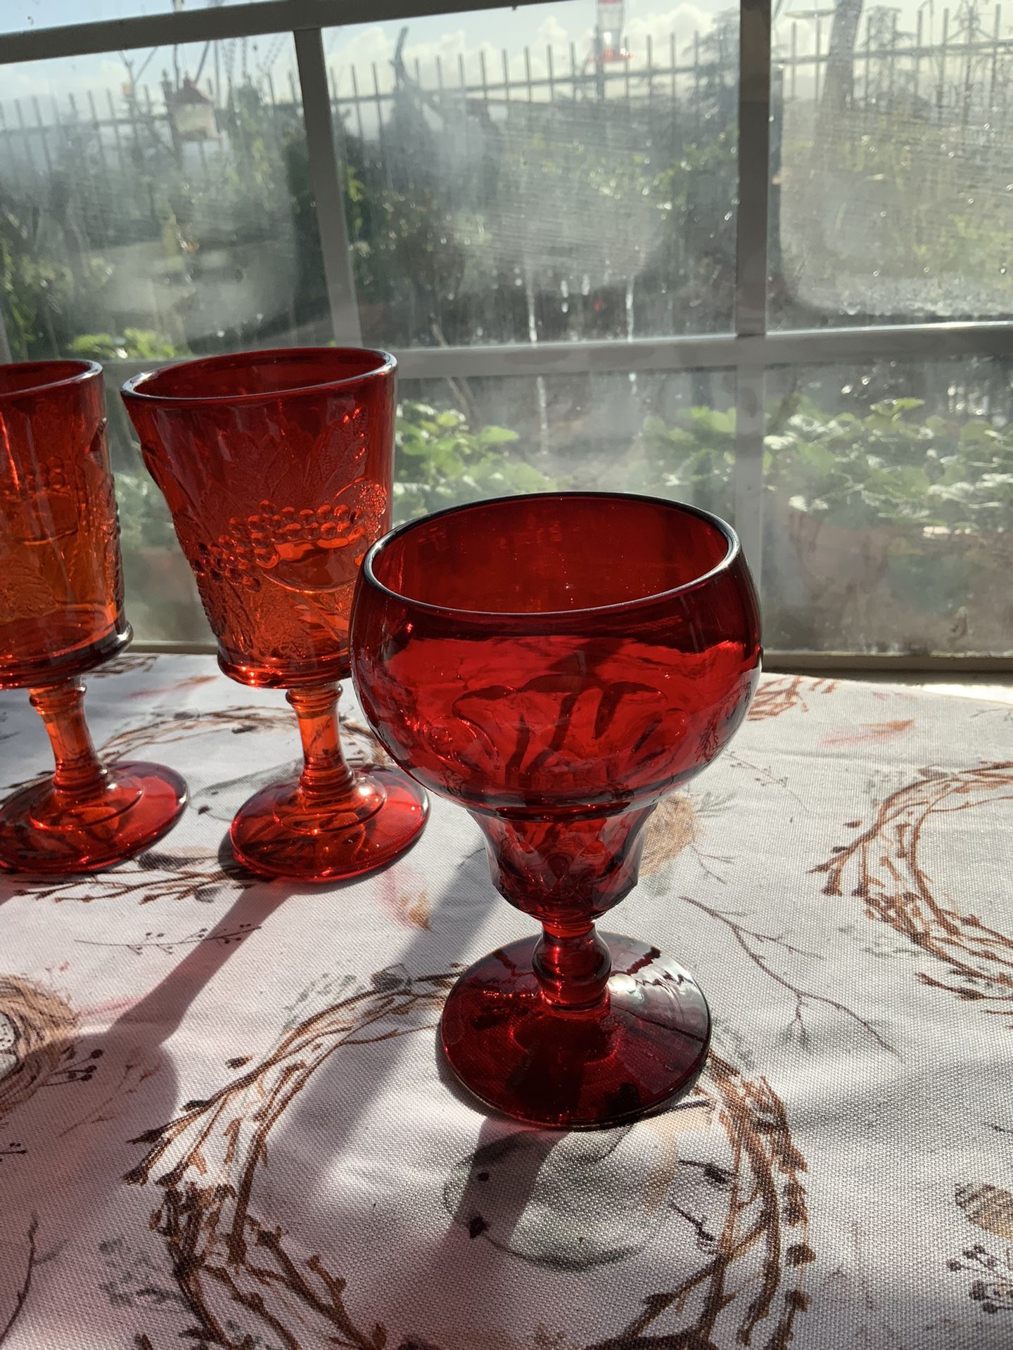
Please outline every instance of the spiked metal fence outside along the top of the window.
[[[994, 7], [989, 32], [979, 24], [974, 5], [963, 5], [956, 14], [943, 9], [937, 40], [927, 38], [924, 28], [921, 11], [913, 32], [898, 28], [893, 9], [874, 9], [867, 16], [847, 78], [850, 108], [890, 112], [900, 104], [908, 112], [932, 112], [936, 120], [960, 126], [968, 135], [983, 131], [994, 135], [1005, 128], [1013, 117], [1013, 38], [1002, 36], [1002, 5]], [[829, 24], [820, 16], [812, 22], [793, 19], [781, 24], [775, 36], [773, 73], [781, 101], [819, 104], [831, 68]], [[737, 24], [725, 24], [709, 34], [693, 34], [685, 42], [671, 34], [665, 50], [648, 36], [644, 49], [632, 51], [629, 59], [604, 68], [582, 58], [570, 43], [566, 54], [551, 46], [543, 53], [525, 46], [521, 76], [511, 73], [511, 58], [504, 50], [492, 69], [479, 51], [458, 55], [452, 68], [444, 66], [439, 57], [424, 70], [415, 61], [411, 70], [401, 68], [400, 78], [443, 115], [466, 107], [473, 113], [501, 117], [517, 103], [621, 99], [648, 112], [667, 109], [670, 115], [700, 119], [705, 99], [715, 89], [724, 89], [735, 103], [737, 49]], [[224, 78], [219, 70], [217, 81], [209, 77], [204, 82], [216, 109], [228, 105], [235, 88], [232, 76], [239, 77], [240, 69], [247, 72], [246, 80], [258, 89], [265, 107], [281, 113], [301, 108], [294, 68], [278, 81], [273, 70], [251, 69], [244, 57], [239, 62], [230, 59], [227, 68]], [[381, 142], [382, 148], [384, 124], [397, 96], [393, 72], [377, 62], [367, 69], [331, 62], [327, 78], [332, 112], [348, 132]], [[167, 97], [170, 85], [162, 89], [149, 82], [122, 93], [109, 88], [68, 93], [62, 100], [0, 99], [0, 170], [14, 174], [16, 181], [49, 174], [59, 153], [86, 134], [103, 169], [116, 166], [128, 171], [153, 138], [173, 144]], [[194, 167], [207, 170], [213, 163], [212, 144], [194, 140], [190, 159]]]

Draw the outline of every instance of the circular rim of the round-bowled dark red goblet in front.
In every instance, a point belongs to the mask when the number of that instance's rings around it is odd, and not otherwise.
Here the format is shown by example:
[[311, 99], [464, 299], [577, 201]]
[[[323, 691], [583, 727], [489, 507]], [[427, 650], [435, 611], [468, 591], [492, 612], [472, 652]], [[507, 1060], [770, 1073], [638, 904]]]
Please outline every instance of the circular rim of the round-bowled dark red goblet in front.
[[[405, 535], [412, 533], [412, 531], [420, 529], [423, 525], [428, 525], [434, 520], [440, 520], [444, 516], [463, 516], [467, 512], [478, 510], [484, 506], [502, 506], [505, 504], [524, 502], [524, 501], [558, 501], [561, 497], [571, 498], [592, 498], [600, 501], [633, 501], [646, 502], [651, 506], [663, 506], [666, 510], [671, 510], [677, 514], [696, 516], [698, 520], [706, 521], [712, 525], [720, 535], [724, 536], [725, 548], [724, 558], [719, 559], [713, 567], [706, 572], [701, 572], [700, 576], [693, 576], [687, 582], [682, 582], [679, 586], [671, 586], [663, 591], [651, 591], [647, 595], [638, 595], [633, 599], [616, 601], [612, 605], [590, 605], [582, 609], [459, 609], [447, 605], [435, 605], [432, 601], [416, 599], [412, 595], [404, 595], [401, 591], [394, 590], [382, 582], [374, 570], [374, 563], [384, 552], [384, 549], [392, 544], [394, 540], [401, 539]], [[521, 493], [512, 497], [490, 497], [486, 501], [479, 502], [465, 502], [459, 506], [446, 506], [443, 510], [432, 512], [430, 516], [423, 516], [419, 520], [405, 521], [404, 525], [397, 525], [394, 529], [378, 539], [375, 544], [371, 544], [366, 556], [362, 559], [361, 576], [363, 585], [373, 586], [375, 590], [388, 595], [390, 599], [398, 603], [407, 605], [412, 609], [421, 610], [427, 614], [454, 614], [455, 618], [475, 620], [475, 621], [489, 621], [501, 620], [511, 624], [542, 624], [546, 620], [574, 620], [581, 616], [590, 614], [619, 614], [623, 610], [646, 608], [655, 605], [659, 601], [670, 599], [675, 595], [685, 595], [692, 590], [697, 590], [700, 586], [705, 586], [708, 582], [715, 580], [723, 572], [727, 572], [737, 558], [742, 556], [742, 543], [732, 526], [721, 520], [720, 516], [715, 516], [713, 512], [704, 510], [702, 506], [690, 506], [689, 502], [673, 501], [667, 497], [651, 497], [646, 493], [609, 493], [609, 491], [570, 491], [570, 493]]]

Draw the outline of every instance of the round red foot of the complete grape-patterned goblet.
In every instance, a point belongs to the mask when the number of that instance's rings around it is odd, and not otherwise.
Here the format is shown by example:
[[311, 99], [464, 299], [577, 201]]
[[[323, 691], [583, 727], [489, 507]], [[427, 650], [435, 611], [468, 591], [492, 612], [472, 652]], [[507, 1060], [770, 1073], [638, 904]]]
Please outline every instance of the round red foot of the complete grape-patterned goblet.
[[373, 872], [409, 848], [430, 813], [425, 792], [397, 770], [354, 774], [338, 806], [313, 801], [300, 780], [262, 788], [240, 806], [230, 836], [258, 876], [335, 882]]

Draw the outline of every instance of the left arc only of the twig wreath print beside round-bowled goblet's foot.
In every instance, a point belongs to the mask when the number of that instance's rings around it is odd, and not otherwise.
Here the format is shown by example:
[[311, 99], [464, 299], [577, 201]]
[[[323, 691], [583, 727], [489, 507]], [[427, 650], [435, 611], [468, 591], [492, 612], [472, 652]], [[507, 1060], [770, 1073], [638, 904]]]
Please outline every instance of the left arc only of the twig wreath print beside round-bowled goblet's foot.
[[284, 1231], [251, 1211], [251, 1195], [271, 1129], [313, 1073], [342, 1046], [432, 1029], [454, 979], [381, 971], [371, 990], [300, 1022], [263, 1062], [136, 1141], [153, 1148], [127, 1181], [162, 1188], [151, 1222], [197, 1336], [227, 1350], [246, 1350], [253, 1335], [286, 1350], [381, 1350], [384, 1327], [353, 1322], [344, 1280], [317, 1254], [292, 1257]]

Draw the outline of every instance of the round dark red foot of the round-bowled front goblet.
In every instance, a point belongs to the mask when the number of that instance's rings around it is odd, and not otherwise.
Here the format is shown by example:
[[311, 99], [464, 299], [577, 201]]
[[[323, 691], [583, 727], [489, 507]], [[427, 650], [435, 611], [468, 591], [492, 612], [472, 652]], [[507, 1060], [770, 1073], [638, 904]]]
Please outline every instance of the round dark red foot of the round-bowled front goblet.
[[710, 1013], [693, 976], [654, 946], [600, 936], [612, 976], [592, 1007], [543, 996], [536, 938], [482, 957], [450, 991], [443, 1050], [488, 1106], [528, 1125], [588, 1130], [636, 1119], [700, 1077]]

